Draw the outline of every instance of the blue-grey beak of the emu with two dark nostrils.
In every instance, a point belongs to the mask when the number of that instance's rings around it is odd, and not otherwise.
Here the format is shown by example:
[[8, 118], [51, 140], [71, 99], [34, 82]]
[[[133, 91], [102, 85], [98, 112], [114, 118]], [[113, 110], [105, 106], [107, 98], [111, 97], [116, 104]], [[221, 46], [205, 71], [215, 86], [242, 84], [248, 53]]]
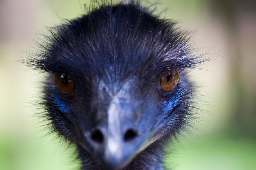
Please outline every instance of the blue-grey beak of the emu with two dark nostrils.
[[147, 139], [152, 127], [140, 132], [137, 115], [131, 108], [120, 104], [118, 98], [113, 99], [108, 106], [107, 121], [96, 126], [91, 135], [84, 135], [91, 146], [89, 152], [107, 169], [123, 169], [149, 145]]

